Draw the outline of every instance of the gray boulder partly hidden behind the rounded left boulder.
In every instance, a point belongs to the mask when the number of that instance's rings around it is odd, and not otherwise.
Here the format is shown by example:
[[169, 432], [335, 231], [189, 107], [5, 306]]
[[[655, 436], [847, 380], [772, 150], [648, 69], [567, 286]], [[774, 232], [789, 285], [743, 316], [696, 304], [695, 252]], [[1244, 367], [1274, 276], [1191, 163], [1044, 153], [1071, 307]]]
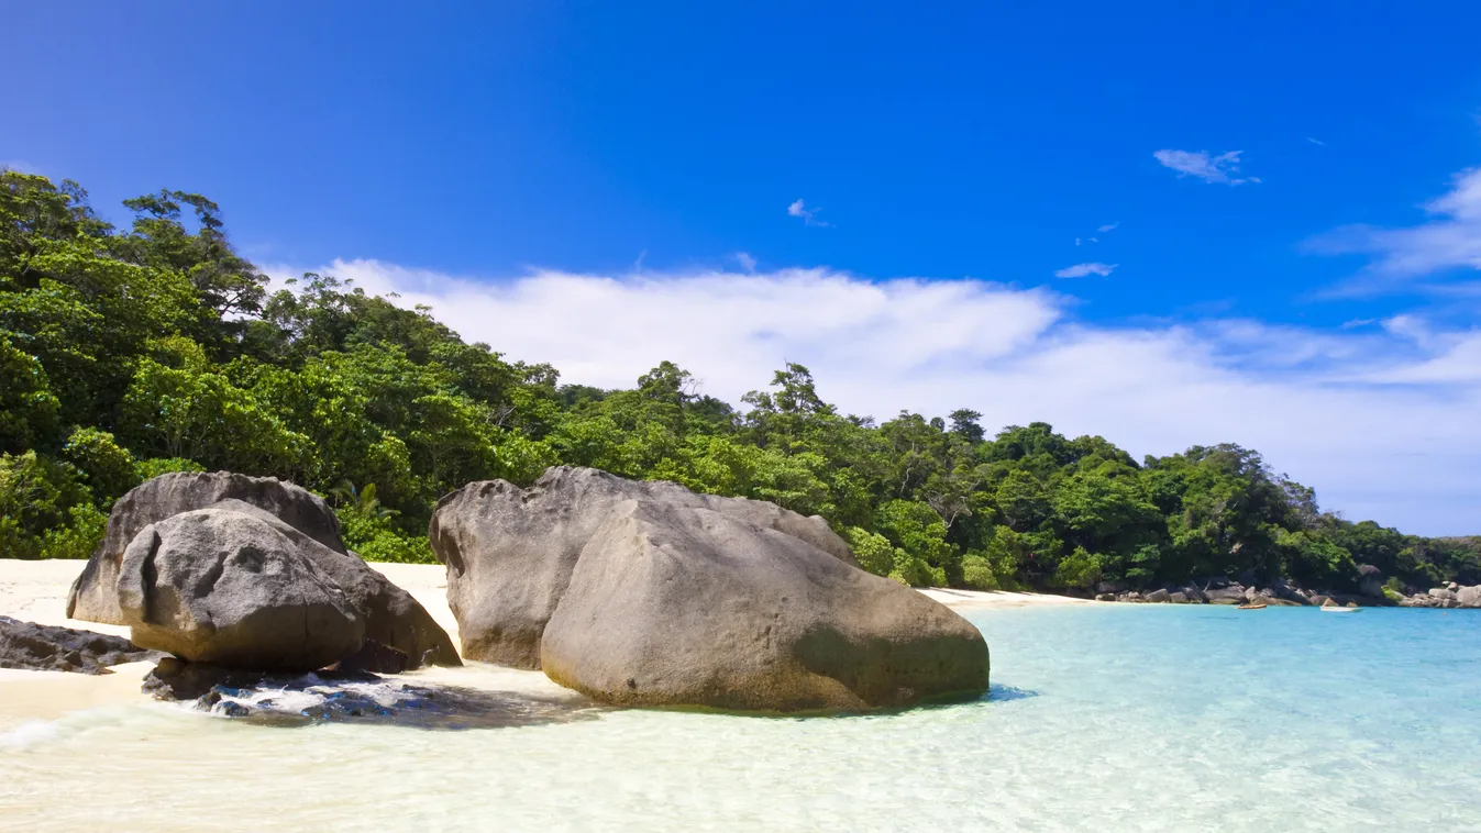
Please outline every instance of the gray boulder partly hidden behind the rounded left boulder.
[[320, 544], [345, 553], [339, 519], [317, 494], [277, 478], [231, 472], [175, 472], [135, 487], [113, 505], [102, 544], [73, 583], [67, 616], [84, 621], [123, 624], [114, 584], [123, 550], [144, 527], [181, 512], [206, 509], [222, 500], [240, 500], [281, 519]]

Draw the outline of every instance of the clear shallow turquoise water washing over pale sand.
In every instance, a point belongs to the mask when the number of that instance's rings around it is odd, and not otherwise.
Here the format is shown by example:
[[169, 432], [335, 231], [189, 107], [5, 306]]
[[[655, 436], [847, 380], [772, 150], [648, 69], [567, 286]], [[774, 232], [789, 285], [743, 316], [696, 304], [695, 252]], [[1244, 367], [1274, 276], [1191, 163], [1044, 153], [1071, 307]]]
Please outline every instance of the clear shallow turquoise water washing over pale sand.
[[429, 732], [78, 713], [0, 734], [0, 830], [1481, 830], [1481, 611], [969, 617], [991, 698], [900, 715]]

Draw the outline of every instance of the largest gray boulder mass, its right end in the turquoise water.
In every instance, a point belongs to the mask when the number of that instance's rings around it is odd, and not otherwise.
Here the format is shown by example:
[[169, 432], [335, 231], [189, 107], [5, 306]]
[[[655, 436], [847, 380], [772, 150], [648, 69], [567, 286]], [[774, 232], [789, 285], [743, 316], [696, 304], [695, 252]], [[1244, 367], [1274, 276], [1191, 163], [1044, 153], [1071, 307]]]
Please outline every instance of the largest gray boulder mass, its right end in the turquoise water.
[[988, 685], [976, 627], [773, 505], [555, 468], [444, 497], [431, 536], [465, 657], [606, 703], [869, 709]]

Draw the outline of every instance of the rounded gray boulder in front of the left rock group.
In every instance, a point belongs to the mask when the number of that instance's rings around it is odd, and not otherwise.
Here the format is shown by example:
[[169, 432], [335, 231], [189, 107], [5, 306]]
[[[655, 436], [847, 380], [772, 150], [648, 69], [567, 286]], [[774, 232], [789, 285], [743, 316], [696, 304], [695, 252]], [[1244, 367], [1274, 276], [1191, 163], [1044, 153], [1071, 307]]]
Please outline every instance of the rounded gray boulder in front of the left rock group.
[[301, 542], [231, 509], [139, 530], [123, 553], [117, 599], [135, 645], [193, 663], [308, 672], [354, 654], [366, 638], [360, 611]]

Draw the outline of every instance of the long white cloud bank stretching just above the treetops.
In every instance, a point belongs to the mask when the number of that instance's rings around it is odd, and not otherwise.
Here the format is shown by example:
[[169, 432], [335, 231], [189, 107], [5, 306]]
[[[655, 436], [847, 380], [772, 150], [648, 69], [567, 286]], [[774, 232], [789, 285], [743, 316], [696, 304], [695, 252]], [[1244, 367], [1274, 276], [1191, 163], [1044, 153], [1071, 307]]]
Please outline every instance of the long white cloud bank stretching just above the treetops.
[[738, 402], [797, 361], [849, 413], [972, 407], [992, 429], [1046, 420], [1136, 456], [1240, 442], [1349, 518], [1428, 534], [1481, 527], [1481, 336], [1416, 320], [1103, 327], [1072, 320], [1071, 299], [1041, 289], [828, 269], [538, 271], [495, 283], [375, 260], [318, 271], [431, 305], [467, 339], [549, 361], [567, 382], [629, 386], [672, 360]]

